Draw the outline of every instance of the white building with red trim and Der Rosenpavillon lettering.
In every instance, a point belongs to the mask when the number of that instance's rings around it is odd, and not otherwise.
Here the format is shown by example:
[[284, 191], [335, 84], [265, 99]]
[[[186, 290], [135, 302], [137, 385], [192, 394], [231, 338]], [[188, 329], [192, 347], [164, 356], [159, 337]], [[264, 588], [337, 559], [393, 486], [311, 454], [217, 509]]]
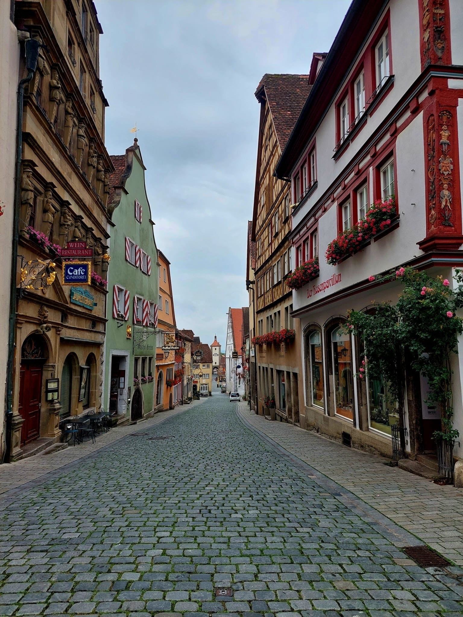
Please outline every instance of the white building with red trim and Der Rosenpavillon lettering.
[[[293, 191], [293, 265], [318, 258], [320, 267], [293, 292], [302, 330], [301, 426], [386, 455], [398, 421], [410, 457], [435, 450], [440, 420], [410, 370], [398, 418], [384, 402], [384, 384], [356, 378], [361, 342], [340, 326], [349, 309], [396, 301], [400, 285], [375, 286], [370, 275], [412, 265], [453, 281], [461, 267], [462, 28], [460, 0], [353, 0], [328, 54], [314, 54], [312, 89], [276, 170]], [[390, 197], [390, 222], [361, 250], [328, 263], [328, 244]], [[454, 428], [463, 445], [457, 356], [453, 369]], [[462, 453], [457, 442], [454, 455]]]

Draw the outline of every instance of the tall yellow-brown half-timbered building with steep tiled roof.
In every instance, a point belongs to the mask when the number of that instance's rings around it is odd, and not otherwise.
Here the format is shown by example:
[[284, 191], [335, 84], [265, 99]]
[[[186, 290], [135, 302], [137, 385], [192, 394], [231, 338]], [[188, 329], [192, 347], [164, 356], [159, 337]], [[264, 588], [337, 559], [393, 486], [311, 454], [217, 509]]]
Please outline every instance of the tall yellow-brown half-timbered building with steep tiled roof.
[[309, 94], [308, 77], [267, 74], [256, 90], [261, 117], [248, 242], [248, 251], [255, 243], [251, 259], [255, 262], [254, 293], [250, 293], [255, 304], [251, 343], [257, 370], [257, 412], [294, 424], [301, 422], [302, 381], [300, 336], [291, 334], [293, 298], [285, 282], [291, 271], [292, 201], [290, 184], [275, 178], [274, 172]]

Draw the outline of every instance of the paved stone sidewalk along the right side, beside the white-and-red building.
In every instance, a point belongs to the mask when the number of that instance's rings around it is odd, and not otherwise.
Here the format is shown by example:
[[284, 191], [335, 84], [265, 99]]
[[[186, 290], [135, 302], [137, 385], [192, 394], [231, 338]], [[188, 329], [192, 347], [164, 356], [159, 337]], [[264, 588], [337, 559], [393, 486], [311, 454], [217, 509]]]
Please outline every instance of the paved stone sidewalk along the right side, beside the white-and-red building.
[[265, 420], [240, 403], [240, 417], [291, 455], [348, 489], [441, 555], [463, 565], [463, 489], [438, 486], [386, 459]]

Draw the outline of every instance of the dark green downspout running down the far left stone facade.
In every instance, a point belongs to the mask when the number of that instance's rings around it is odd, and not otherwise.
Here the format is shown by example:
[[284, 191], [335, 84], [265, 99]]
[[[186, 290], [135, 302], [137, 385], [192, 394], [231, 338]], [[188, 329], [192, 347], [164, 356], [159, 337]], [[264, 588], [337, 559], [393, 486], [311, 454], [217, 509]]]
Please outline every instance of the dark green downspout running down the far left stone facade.
[[22, 115], [24, 86], [31, 81], [37, 68], [38, 52], [43, 43], [36, 39], [27, 39], [25, 43], [27, 77], [19, 82], [17, 94], [17, 122], [16, 122], [16, 167], [14, 187], [14, 211], [13, 211], [13, 242], [11, 251], [10, 272], [10, 309], [8, 318], [8, 358], [6, 373], [6, 448], [3, 462], [10, 462], [11, 452], [11, 426], [13, 418], [13, 372], [14, 372], [14, 338], [16, 323], [16, 273], [18, 259], [18, 239], [20, 221], [20, 196], [21, 196], [21, 160], [22, 160]]

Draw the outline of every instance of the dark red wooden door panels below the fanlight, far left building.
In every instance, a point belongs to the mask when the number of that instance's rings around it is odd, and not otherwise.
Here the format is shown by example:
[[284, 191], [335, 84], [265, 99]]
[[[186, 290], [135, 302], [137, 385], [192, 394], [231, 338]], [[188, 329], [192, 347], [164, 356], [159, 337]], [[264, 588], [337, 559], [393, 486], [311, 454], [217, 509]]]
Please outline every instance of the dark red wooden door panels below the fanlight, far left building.
[[21, 363], [19, 380], [19, 413], [24, 422], [21, 427], [21, 445], [40, 435], [40, 405], [42, 397], [42, 365], [35, 362]]

